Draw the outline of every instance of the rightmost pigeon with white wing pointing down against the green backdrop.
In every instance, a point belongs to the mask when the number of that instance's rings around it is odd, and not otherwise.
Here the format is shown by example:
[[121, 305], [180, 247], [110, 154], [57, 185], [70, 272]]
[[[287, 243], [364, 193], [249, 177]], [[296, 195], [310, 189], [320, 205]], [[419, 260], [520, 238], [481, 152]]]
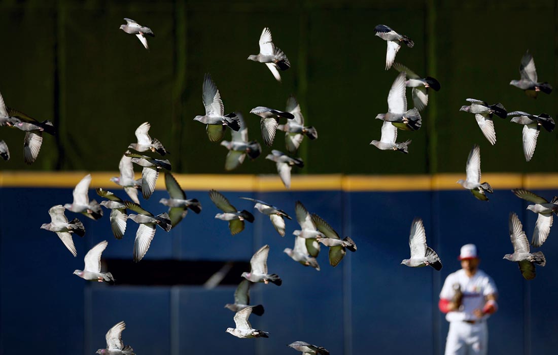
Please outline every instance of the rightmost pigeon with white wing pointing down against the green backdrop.
[[552, 132], [555, 126], [554, 119], [546, 113], [536, 116], [522, 111], [508, 112], [507, 117], [512, 118], [511, 122], [523, 124], [523, 155], [525, 155], [525, 160], [530, 161], [535, 153], [541, 126]]

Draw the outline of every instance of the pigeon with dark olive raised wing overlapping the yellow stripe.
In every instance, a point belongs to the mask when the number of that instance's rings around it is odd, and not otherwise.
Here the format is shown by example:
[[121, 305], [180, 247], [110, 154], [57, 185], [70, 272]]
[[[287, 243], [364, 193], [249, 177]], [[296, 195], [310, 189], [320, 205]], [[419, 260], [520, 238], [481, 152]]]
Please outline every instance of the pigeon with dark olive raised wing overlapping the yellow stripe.
[[182, 218], [186, 217], [188, 209], [193, 210], [196, 214], [201, 212], [200, 202], [196, 199], [186, 200], [186, 194], [182, 191], [182, 188], [169, 171], [165, 171], [165, 186], [170, 198], [161, 199], [159, 203], [169, 207], [168, 213], [172, 228], [174, 228]]

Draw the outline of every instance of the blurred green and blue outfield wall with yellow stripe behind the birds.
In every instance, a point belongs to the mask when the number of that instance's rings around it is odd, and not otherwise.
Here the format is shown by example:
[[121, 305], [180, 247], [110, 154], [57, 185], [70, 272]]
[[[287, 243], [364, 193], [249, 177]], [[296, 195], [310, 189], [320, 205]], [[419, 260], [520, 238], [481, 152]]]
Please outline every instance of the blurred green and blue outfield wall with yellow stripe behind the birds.
[[[501, 259], [512, 252], [509, 212], [518, 213], [528, 238], [536, 220], [509, 189], [533, 189], [549, 200], [557, 194], [558, 135], [542, 131], [526, 162], [521, 126], [495, 117], [497, 144], [491, 146], [473, 115], [459, 108], [475, 98], [556, 118], [555, 92], [532, 99], [509, 81], [519, 79], [521, 57], [529, 50], [539, 80], [558, 85], [557, 15], [557, 1], [0, 2], [4, 101], [40, 121], [50, 119], [58, 132], [45, 135], [37, 161], [27, 166], [23, 133], [0, 129], [12, 156], [0, 162], [0, 352], [15, 353], [23, 345], [31, 352], [92, 354], [105, 347], [107, 330], [124, 320], [124, 343], [138, 354], [232, 349], [289, 354], [294, 351], [285, 345], [296, 340], [332, 354], [441, 354], [448, 323], [437, 310], [439, 291], [459, 268], [459, 247], [473, 242], [480, 267], [501, 292], [500, 309], [489, 320], [490, 353], [552, 353], [558, 347], [552, 303], [558, 296], [552, 282], [558, 274], [557, 232], [551, 229], [541, 248], [548, 262], [535, 280], [526, 282], [516, 265]], [[150, 51], [118, 30], [124, 17], [153, 30]], [[408, 155], [369, 146], [379, 140], [382, 122], [374, 117], [387, 111], [398, 74], [384, 70], [386, 42], [373, 31], [378, 24], [415, 41], [412, 49], [401, 48], [397, 62], [441, 83], [439, 92], [429, 92], [420, 131], [399, 133], [400, 141], [412, 139]], [[265, 65], [247, 60], [258, 53], [263, 27], [270, 27], [273, 42], [290, 59], [282, 83]], [[319, 138], [302, 143], [305, 167], [293, 170], [292, 190], [266, 185], [262, 175], [276, 174], [275, 164], [264, 160], [267, 147], [257, 160], [247, 159], [225, 175], [227, 150], [211, 143], [203, 124], [193, 121], [204, 113], [205, 73], [217, 84], [225, 112], [243, 113], [249, 138], [261, 143], [259, 117], [248, 112], [259, 105], [284, 109], [291, 94], [299, 100], [306, 124], [318, 129]], [[410, 94], [408, 102], [411, 106]], [[49, 222], [48, 209], [70, 203], [73, 186], [87, 172], [94, 178], [90, 198], [100, 201], [97, 187], [124, 198], [116, 185], [96, 176], [117, 175], [134, 130], [146, 121], [151, 137], [171, 152], [182, 188], [200, 200], [203, 212], [190, 213], [169, 234], [158, 230], [137, 265], [131, 261], [135, 224], [128, 223], [126, 236], [117, 241], [107, 210], [97, 222], [80, 216], [87, 233], [74, 238], [78, 257], [72, 258], [54, 234], [39, 229]], [[277, 133], [272, 148], [285, 150], [283, 136]], [[496, 190], [489, 203], [454, 185], [463, 178], [475, 143], [482, 171], [489, 173], [483, 181]], [[45, 175], [50, 172], [55, 174]], [[234, 180], [232, 174], [242, 175]], [[315, 180], [304, 183], [304, 175]], [[156, 214], [166, 210], [158, 204], [167, 197], [161, 183], [150, 200], [142, 200]], [[351, 236], [358, 251], [332, 268], [324, 248], [322, 270], [304, 268], [282, 253], [294, 244], [290, 233], [296, 222], [288, 221], [281, 238], [258, 214], [254, 224], [231, 237], [226, 223], [213, 219], [219, 210], [207, 195], [211, 188], [222, 190], [239, 209], [251, 204], [237, 197], [251, 196], [293, 217], [294, 203], [301, 200], [339, 234]], [[408, 257], [408, 231], [416, 216], [424, 219], [427, 241], [444, 263], [439, 273], [399, 265]], [[110, 287], [71, 275], [83, 267], [86, 251], [104, 239], [109, 241], [105, 266], [117, 268], [110, 271], [117, 282], [126, 282]], [[252, 302], [263, 303], [266, 313], [250, 320], [270, 338], [237, 339], [225, 333], [234, 322], [223, 306], [233, 301], [244, 270], [213, 290], [205, 290], [201, 280], [229, 261], [246, 267], [263, 244], [271, 246], [270, 271], [280, 274], [283, 285], [253, 288]], [[146, 276], [129, 280], [119, 275], [126, 270]], [[186, 270], [199, 275], [172, 281]]]

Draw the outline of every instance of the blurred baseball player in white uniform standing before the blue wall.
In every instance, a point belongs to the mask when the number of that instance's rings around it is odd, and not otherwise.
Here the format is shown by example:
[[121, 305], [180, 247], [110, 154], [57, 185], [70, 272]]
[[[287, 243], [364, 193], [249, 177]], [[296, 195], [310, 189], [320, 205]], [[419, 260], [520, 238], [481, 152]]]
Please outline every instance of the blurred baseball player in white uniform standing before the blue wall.
[[490, 276], [479, 270], [474, 244], [459, 254], [461, 270], [448, 275], [440, 292], [439, 308], [450, 322], [445, 355], [487, 353], [487, 319], [498, 309], [498, 290]]

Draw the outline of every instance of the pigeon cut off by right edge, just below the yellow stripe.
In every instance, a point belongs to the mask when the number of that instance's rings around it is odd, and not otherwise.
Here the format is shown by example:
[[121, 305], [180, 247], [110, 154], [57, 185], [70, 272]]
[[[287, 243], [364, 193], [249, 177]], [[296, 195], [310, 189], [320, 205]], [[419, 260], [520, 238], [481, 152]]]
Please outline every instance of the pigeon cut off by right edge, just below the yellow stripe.
[[554, 196], [551, 202], [548, 202], [541, 196], [525, 189], [513, 189], [512, 192], [518, 198], [534, 203], [534, 205], [527, 206], [528, 210], [538, 214], [531, 245], [537, 248], [542, 246], [542, 243], [549, 237], [550, 227], [552, 227], [552, 213], [558, 214], [558, 196]]

